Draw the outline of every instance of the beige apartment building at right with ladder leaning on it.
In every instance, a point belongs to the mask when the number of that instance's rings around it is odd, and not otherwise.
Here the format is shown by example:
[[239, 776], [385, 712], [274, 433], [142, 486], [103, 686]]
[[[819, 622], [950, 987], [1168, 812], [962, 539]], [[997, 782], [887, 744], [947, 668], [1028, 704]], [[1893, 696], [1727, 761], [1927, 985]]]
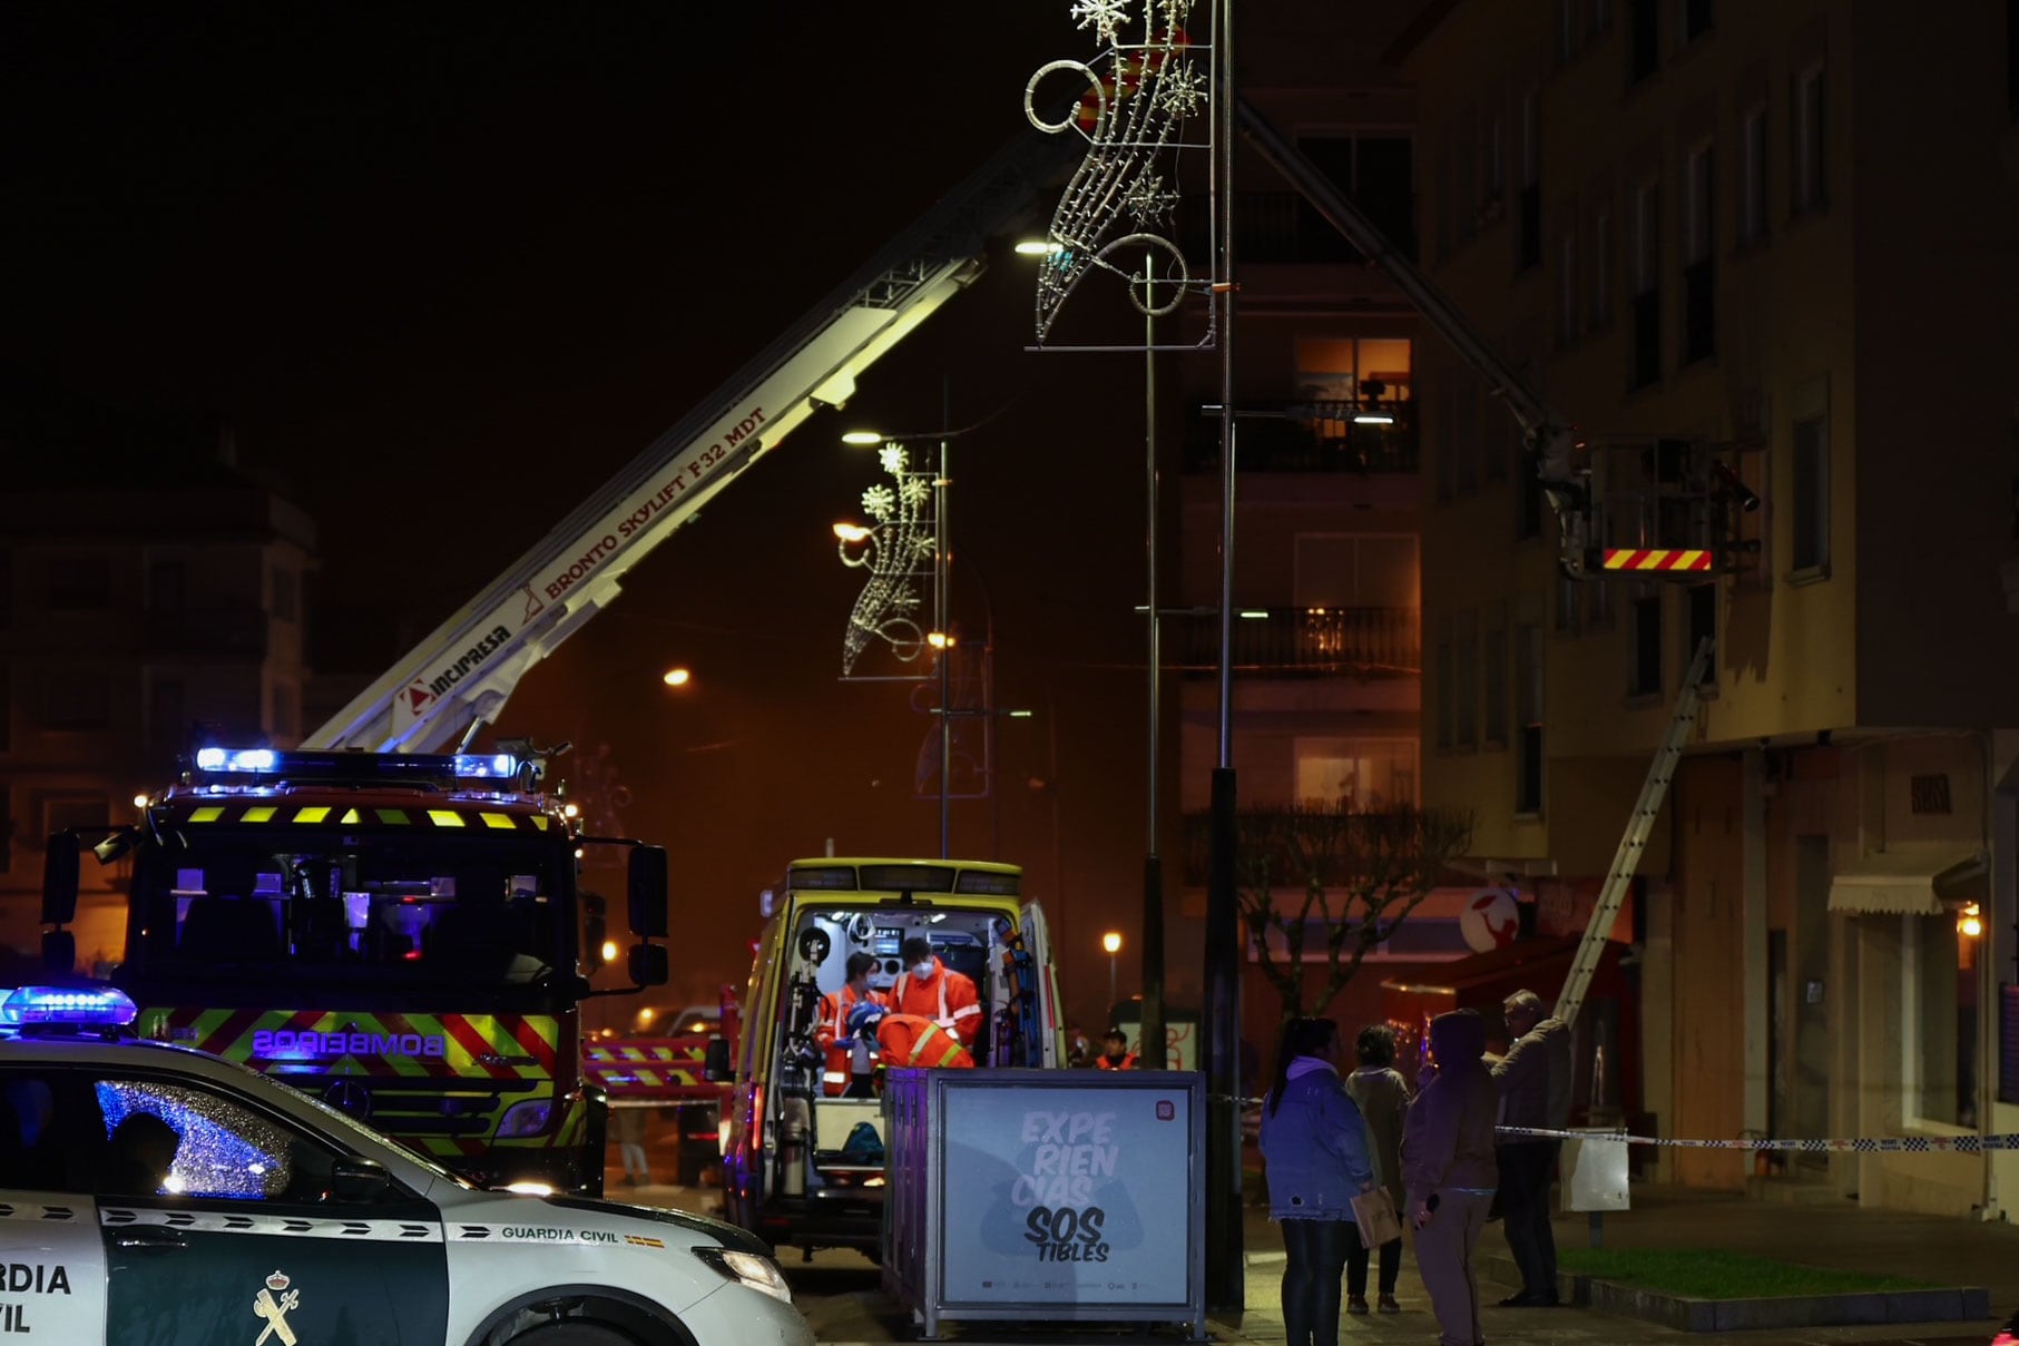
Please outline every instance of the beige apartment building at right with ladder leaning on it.
[[[1595, 888], [1714, 642], [1631, 930], [1668, 1136], [2019, 1124], [2019, 59], [2005, 4], [1896, 18], [1460, 0], [1395, 46], [1429, 274], [1593, 444], [1710, 444], [1757, 498], [1718, 573], [1565, 579], [1512, 426], [1425, 361], [1429, 803], [1538, 896]], [[2019, 1166], [1956, 1152], [1660, 1172], [2019, 1205]]]

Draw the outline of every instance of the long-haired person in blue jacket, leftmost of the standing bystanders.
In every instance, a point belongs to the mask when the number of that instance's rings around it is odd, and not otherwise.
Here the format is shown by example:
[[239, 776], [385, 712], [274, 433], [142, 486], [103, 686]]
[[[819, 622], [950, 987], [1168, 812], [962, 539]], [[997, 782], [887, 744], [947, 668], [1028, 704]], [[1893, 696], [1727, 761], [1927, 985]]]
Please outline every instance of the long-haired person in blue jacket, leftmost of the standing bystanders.
[[1339, 1025], [1292, 1019], [1262, 1100], [1270, 1219], [1282, 1221], [1282, 1326], [1290, 1346], [1339, 1346], [1339, 1277], [1359, 1243], [1353, 1199], [1371, 1191], [1367, 1124], [1335, 1063]]

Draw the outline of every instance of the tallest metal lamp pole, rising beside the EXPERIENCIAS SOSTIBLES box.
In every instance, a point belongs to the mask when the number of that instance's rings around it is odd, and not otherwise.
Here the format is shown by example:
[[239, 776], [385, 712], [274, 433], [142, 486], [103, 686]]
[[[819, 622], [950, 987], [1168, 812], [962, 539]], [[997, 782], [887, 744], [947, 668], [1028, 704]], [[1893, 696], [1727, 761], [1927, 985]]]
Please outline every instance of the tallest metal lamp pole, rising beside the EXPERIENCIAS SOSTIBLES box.
[[1219, 759], [1213, 769], [1211, 854], [1205, 882], [1205, 1304], [1240, 1312], [1240, 912], [1234, 890], [1234, 0], [1213, 24], [1213, 297], [1219, 339]]

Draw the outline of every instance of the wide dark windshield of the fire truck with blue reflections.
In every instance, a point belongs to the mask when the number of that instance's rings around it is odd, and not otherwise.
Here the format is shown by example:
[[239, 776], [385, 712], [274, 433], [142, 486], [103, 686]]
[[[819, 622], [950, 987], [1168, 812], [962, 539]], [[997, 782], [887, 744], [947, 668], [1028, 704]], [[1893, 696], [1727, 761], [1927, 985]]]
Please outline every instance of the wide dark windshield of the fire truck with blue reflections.
[[[127, 975], [531, 987], [573, 965], [569, 850], [430, 831], [168, 833], [139, 854]], [[567, 886], [563, 886], [567, 884]]]

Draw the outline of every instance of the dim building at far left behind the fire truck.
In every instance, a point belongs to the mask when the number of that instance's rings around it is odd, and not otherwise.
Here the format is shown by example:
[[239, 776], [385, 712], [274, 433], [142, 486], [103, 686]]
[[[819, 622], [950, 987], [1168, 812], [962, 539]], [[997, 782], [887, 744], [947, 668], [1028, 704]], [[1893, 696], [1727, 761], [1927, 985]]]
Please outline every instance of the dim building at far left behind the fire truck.
[[[157, 468], [0, 488], [0, 944], [22, 959], [40, 946], [50, 831], [133, 821], [196, 726], [275, 747], [303, 733], [313, 523], [216, 462]], [[121, 955], [125, 868], [85, 860], [85, 967]]]

